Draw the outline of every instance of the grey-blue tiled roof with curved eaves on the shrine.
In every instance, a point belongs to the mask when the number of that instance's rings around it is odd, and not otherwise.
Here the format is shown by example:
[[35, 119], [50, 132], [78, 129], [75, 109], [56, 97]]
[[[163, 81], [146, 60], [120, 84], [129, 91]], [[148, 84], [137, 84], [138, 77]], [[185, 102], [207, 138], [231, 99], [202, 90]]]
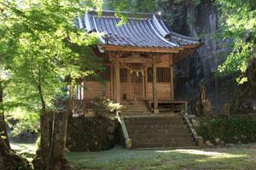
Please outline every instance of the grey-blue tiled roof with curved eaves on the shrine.
[[142, 48], [181, 48], [192, 44], [201, 44], [201, 40], [186, 37], [169, 31], [163, 20], [154, 14], [128, 14], [128, 22], [117, 26], [118, 18], [113, 11], [103, 11], [102, 16], [91, 11], [79, 18], [79, 27], [86, 31], [103, 32], [101, 41], [106, 45], [142, 47]]

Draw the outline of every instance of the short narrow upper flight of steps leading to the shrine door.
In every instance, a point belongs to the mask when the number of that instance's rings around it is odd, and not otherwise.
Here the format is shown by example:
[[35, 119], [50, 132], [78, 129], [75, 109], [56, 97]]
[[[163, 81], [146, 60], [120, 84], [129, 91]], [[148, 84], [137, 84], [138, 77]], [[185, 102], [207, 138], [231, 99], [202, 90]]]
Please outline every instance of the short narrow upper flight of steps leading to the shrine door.
[[136, 116], [136, 115], [148, 115], [151, 111], [148, 109], [148, 105], [145, 101], [123, 101], [122, 115], [123, 116]]

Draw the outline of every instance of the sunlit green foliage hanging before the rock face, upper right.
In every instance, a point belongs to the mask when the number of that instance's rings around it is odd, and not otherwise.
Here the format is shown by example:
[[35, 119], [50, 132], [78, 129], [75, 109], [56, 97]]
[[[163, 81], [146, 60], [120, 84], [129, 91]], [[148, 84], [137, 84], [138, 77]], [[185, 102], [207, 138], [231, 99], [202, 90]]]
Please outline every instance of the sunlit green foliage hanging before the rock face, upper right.
[[223, 39], [232, 39], [233, 51], [218, 68], [220, 75], [236, 73], [236, 81], [247, 81], [247, 68], [256, 44], [256, 5], [253, 0], [218, 0]]

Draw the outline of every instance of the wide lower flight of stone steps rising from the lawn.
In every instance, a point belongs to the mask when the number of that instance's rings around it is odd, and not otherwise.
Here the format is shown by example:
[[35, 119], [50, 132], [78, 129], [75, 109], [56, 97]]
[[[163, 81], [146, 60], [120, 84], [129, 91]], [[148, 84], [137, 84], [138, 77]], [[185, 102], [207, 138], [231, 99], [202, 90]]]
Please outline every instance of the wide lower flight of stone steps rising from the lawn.
[[195, 147], [182, 116], [123, 116], [132, 148]]

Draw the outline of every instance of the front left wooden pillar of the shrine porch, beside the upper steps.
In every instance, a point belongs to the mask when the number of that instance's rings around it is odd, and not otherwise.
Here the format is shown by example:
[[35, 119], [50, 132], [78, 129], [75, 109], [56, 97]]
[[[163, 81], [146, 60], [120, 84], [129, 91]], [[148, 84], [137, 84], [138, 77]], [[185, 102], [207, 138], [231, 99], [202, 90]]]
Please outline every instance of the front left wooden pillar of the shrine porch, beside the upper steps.
[[120, 65], [119, 61], [114, 62], [114, 69], [113, 69], [113, 75], [114, 75], [114, 97], [115, 101], [119, 103], [121, 101], [120, 98]]

